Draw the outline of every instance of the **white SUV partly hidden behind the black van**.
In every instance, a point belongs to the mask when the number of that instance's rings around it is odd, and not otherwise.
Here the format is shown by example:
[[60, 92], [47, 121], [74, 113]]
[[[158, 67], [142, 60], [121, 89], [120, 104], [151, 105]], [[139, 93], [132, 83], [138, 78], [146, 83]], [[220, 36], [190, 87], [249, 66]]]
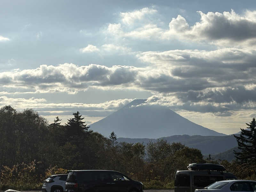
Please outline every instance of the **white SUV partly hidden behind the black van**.
[[65, 191], [65, 183], [67, 174], [51, 175], [44, 180], [42, 192], [63, 192]]

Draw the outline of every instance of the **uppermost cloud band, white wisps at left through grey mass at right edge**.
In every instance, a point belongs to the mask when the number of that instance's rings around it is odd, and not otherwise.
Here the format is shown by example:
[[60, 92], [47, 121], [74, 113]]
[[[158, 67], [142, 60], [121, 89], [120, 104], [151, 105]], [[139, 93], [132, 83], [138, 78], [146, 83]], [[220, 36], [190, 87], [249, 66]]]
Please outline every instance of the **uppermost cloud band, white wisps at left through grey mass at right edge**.
[[[146, 19], [146, 16], [156, 13], [155, 9], [143, 8], [134, 12], [121, 13], [121, 23], [109, 24], [108, 33], [112, 36], [129, 37], [135, 39], [170, 40], [179, 39], [187, 42], [204, 42], [217, 44], [221, 47], [256, 44], [256, 11], [245, 11], [243, 15], [234, 10], [230, 12], [207, 12], [198, 11], [201, 19], [194, 25], [189, 26], [184, 17], [178, 15], [172, 18], [169, 29], [160, 28], [161, 21], [157, 18]], [[144, 22], [135, 20], [144, 19]], [[125, 25], [129, 25], [127, 28]]]

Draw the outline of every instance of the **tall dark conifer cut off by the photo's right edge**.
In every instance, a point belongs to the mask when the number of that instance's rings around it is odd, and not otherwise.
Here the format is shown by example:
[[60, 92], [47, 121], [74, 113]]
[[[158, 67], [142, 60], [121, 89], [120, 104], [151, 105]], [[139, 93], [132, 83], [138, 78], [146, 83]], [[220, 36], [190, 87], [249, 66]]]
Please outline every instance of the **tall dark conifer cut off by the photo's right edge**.
[[241, 129], [240, 136], [234, 135], [237, 140], [240, 152], [234, 150], [236, 161], [239, 164], [256, 165], [256, 121], [252, 121], [246, 125], [246, 129]]

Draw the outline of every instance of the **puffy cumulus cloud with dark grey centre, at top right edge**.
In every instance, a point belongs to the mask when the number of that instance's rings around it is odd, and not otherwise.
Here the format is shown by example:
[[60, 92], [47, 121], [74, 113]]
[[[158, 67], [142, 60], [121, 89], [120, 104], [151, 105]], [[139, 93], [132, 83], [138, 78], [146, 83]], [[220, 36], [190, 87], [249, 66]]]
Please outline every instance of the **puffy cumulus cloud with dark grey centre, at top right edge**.
[[[221, 46], [243, 46], [244, 43], [253, 43], [256, 38], [256, 11], [246, 11], [244, 15], [238, 15], [234, 10], [231, 12], [208, 12], [198, 11], [201, 21], [189, 26], [185, 18], [178, 15], [169, 23], [169, 31], [163, 38], [173, 36], [188, 41], [206, 41]], [[224, 44], [224, 42], [226, 44]]]

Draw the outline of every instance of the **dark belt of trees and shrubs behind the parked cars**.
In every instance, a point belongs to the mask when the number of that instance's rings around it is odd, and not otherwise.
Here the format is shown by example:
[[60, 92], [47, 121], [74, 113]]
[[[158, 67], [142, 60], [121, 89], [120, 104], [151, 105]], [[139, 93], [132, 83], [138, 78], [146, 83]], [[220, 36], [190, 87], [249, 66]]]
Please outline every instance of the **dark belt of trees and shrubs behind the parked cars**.
[[[146, 188], [172, 188], [177, 170], [190, 163], [214, 162], [179, 142], [117, 142], [114, 132], [104, 137], [90, 130], [78, 111], [73, 115], [61, 125], [59, 117], [49, 124], [32, 109], [0, 109], [0, 189], [39, 189], [47, 176], [72, 169], [116, 170]], [[241, 172], [235, 162], [221, 164], [238, 178], [252, 175]]]

